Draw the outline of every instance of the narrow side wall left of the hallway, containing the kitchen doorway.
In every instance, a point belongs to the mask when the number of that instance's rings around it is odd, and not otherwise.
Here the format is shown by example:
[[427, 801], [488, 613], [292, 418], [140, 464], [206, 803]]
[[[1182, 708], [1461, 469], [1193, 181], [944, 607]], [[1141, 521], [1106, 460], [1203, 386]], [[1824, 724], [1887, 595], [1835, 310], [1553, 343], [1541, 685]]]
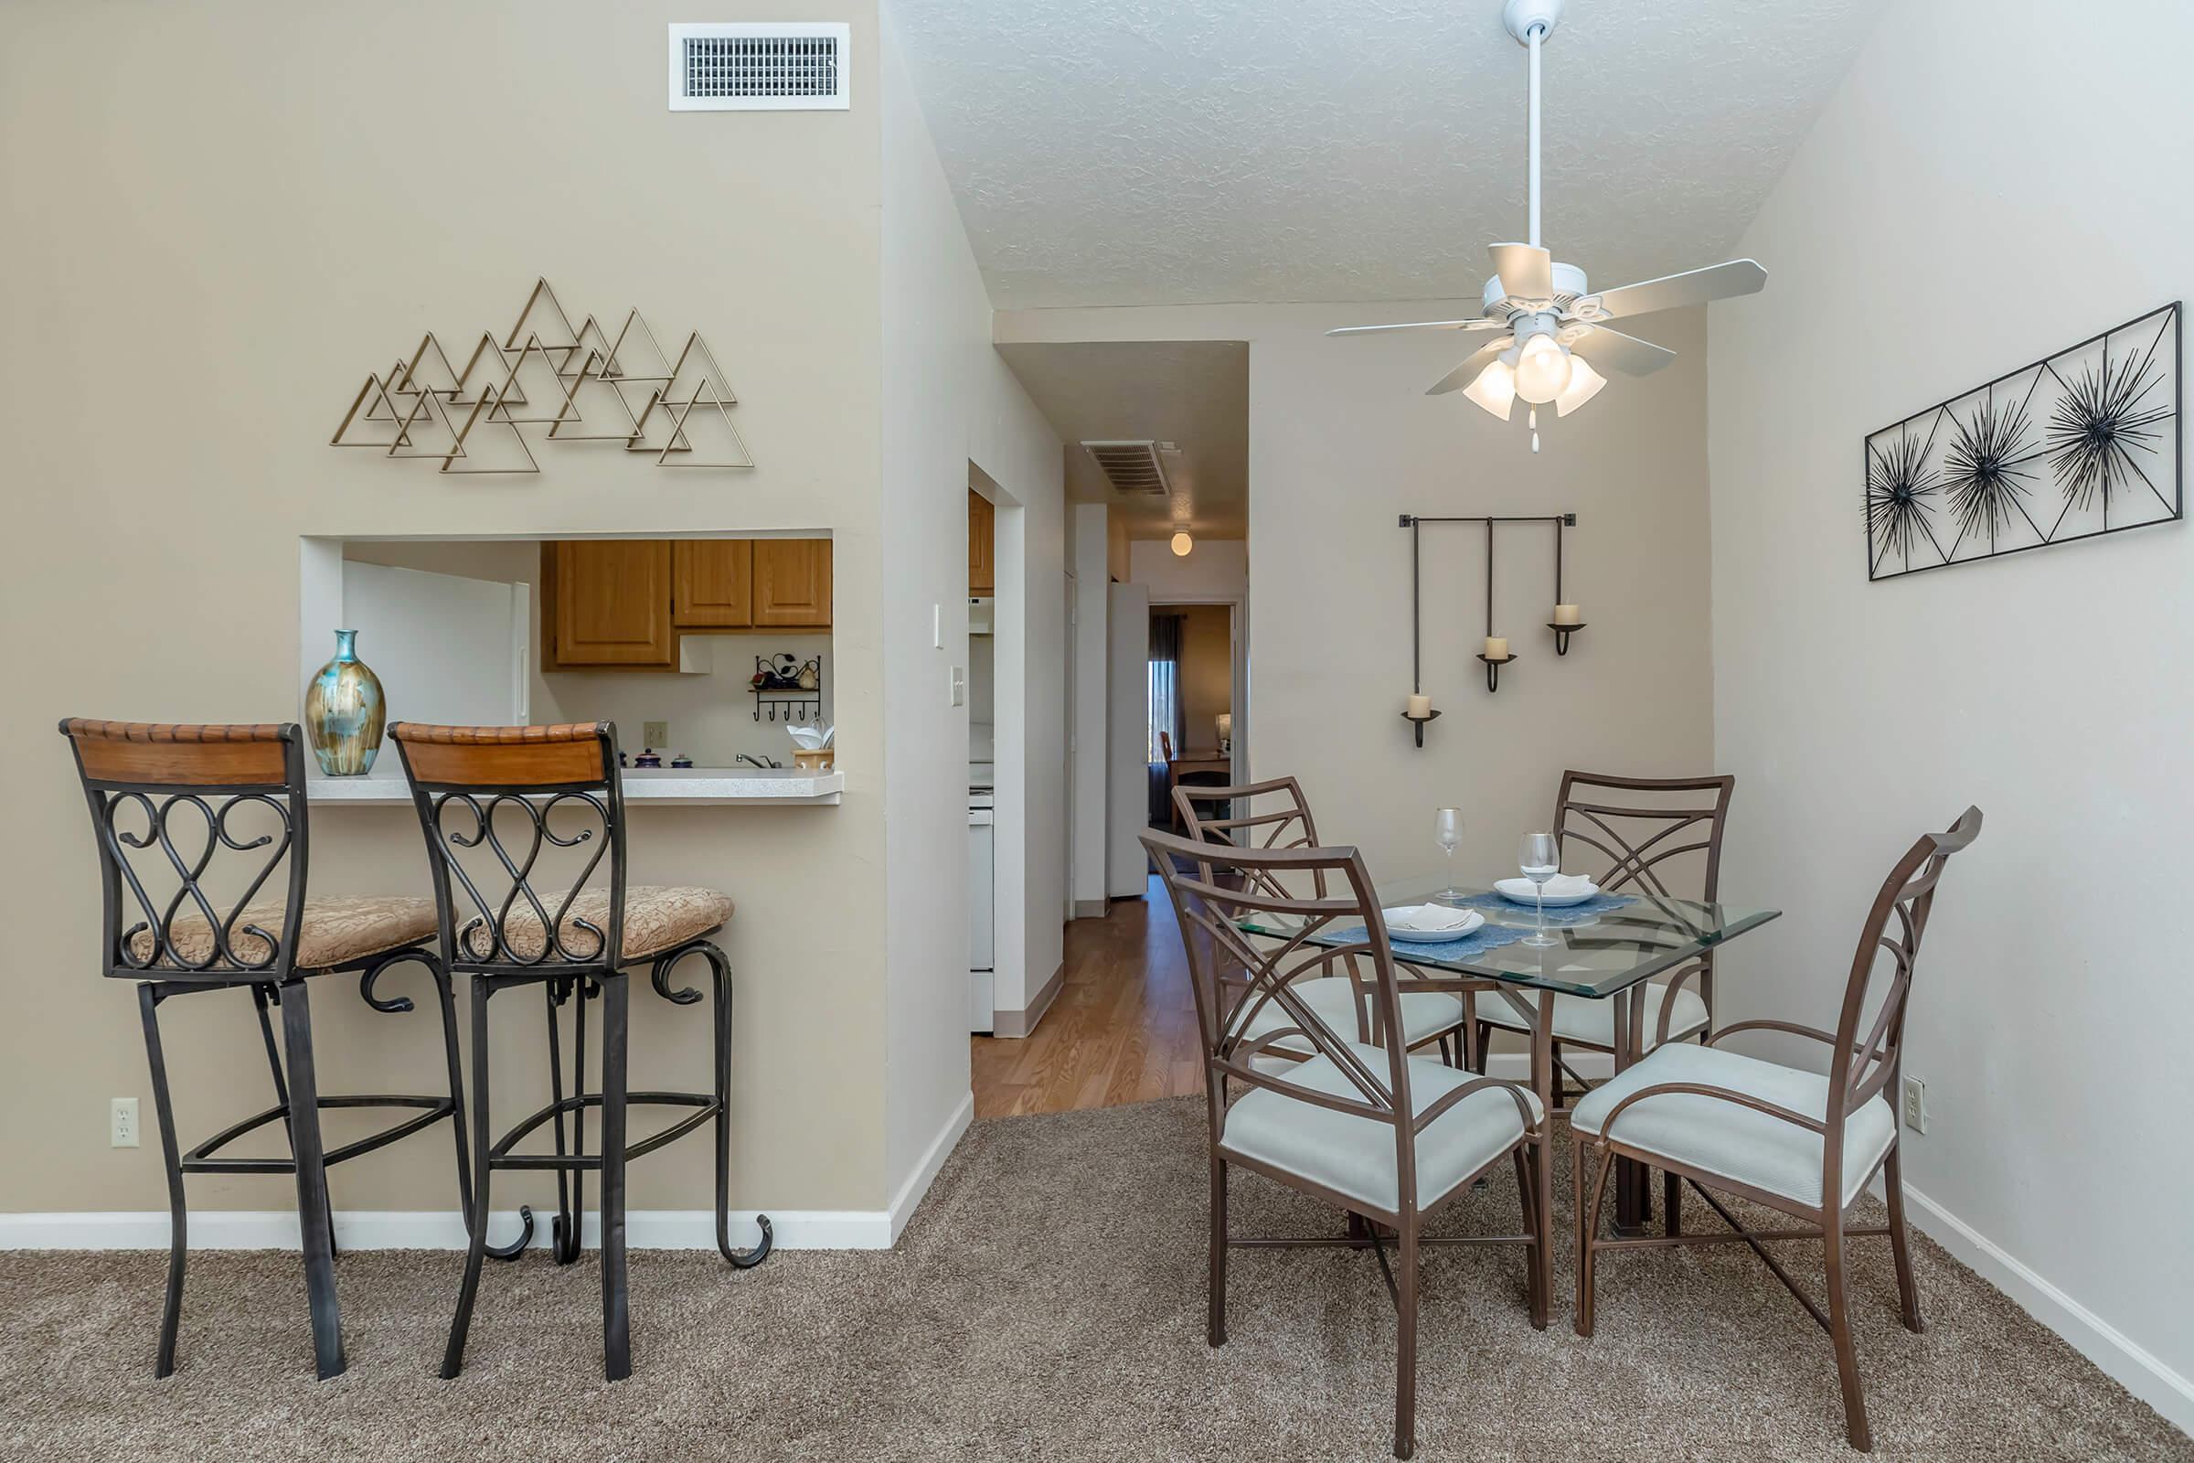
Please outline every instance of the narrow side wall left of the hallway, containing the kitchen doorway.
[[[886, 44], [895, 35], [884, 15]], [[998, 511], [996, 943], [998, 1005], [1022, 969], [1058, 965], [1064, 855], [1060, 673], [1066, 544], [1060, 439], [989, 347], [989, 296], [904, 64], [882, 75], [882, 509], [891, 871], [884, 1134], [891, 1193], [941, 1127], [972, 1114], [968, 1088], [968, 665], [970, 463]], [[932, 610], [935, 608], [935, 610]], [[937, 619], [941, 616], [941, 621]], [[941, 623], [941, 636], [932, 625]], [[939, 638], [943, 645], [939, 645]], [[1027, 719], [1014, 711], [1027, 689]], [[1018, 1000], [1014, 1000], [1018, 1005]]]

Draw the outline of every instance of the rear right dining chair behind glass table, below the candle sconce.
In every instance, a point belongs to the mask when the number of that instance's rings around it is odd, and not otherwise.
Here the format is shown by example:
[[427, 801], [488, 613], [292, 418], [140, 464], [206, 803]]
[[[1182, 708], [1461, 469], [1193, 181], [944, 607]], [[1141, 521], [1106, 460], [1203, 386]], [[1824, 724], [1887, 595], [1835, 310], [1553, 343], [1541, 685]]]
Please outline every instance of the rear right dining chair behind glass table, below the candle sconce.
[[[1553, 836], [1564, 866], [1591, 864], [1604, 893], [1661, 895], [1714, 904], [1722, 882], [1722, 829], [1729, 823], [1733, 776], [1613, 776], [1562, 772], [1553, 801]], [[1667, 980], [1639, 987], [1643, 1048], [1705, 1040], [1714, 1031], [1714, 952], [1676, 969]], [[1553, 998], [1553, 1110], [1562, 1110], [1564, 1075], [1580, 1088], [1593, 1084], [1562, 1059], [1564, 1048], [1615, 1053], [1613, 1000]], [[1531, 1031], [1512, 1002], [1472, 996], [1477, 1070], [1485, 1070], [1492, 1029]], [[1674, 1198], [1674, 1184], [1670, 1187]]]

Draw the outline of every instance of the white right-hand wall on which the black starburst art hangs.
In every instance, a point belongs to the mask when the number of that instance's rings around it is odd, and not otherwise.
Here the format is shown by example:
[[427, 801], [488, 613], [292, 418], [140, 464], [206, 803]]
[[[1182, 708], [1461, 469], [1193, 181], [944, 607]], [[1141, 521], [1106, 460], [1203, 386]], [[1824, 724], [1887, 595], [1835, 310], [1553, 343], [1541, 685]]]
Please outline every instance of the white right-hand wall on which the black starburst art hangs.
[[[1891, 860], [1979, 803], [1909, 1016], [1920, 1224], [2194, 1426], [2194, 1176], [2165, 1158], [2194, 1103], [2194, 533], [1882, 583], [1861, 562], [1867, 432], [2190, 292], [2194, 13], [2097, 20], [2078, 0], [2016, 22], [1898, 7], [1742, 239], [1771, 283], [1714, 314], [1716, 739], [1738, 774], [1731, 895], [1786, 912], [1731, 948], [1720, 989], [1740, 1018], [1834, 1024]], [[2016, 307], [1889, 342], [1852, 314], [1885, 298]]]

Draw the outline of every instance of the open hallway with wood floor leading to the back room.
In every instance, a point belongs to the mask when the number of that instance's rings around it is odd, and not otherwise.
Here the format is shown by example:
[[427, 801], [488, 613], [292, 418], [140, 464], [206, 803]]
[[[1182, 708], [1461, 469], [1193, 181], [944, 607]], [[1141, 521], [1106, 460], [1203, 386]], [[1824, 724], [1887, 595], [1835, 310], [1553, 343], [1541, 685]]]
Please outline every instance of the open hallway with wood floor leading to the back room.
[[[1248, 781], [1248, 344], [1007, 342], [998, 355], [1066, 443], [1075, 919], [1055, 998], [1018, 1040], [972, 1037], [976, 1114], [1200, 1092], [1183, 930], [1141, 833], [1174, 776]], [[1156, 676], [1152, 625], [1174, 645]], [[998, 715], [1003, 737], [1003, 682]]]

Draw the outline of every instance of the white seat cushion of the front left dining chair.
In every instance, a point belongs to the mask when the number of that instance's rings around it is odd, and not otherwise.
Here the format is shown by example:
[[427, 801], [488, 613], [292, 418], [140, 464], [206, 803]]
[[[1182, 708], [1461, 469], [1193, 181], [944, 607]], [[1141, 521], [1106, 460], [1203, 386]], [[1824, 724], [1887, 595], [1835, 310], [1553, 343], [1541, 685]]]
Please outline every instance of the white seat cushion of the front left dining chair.
[[[1349, 1042], [1349, 1051], [1371, 1068], [1380, 1086], [1387, 1086], [1389, 1059], [1382, 1048]], [[1334, 1066], [1332, 1057], [1299, 1062], [1281, 1073], [1281, 1081], [1362, 1101], [1362, 1090]], [[1415, 1112], [1424, 1112], [1466, 1081], [1479, 1081], [1477, 1073], [1430, 1057], [1409, 1057], [1409, 1101]], [[1525, 1101], [1536, 1123], [1538, 1099], [1525, 1092]], [[1516, 1101], [1499, 1088], [1472, 1092], [1441, 1112], [1417, 1134], [1417, 1204], [1433, 1204], [1505, 1154], [1523, 1138], [1523, 1130]], [[1378, 1119], [1321, 1108], [1273, 1088], [1253, 1088], [1226, 1110], [1220, 1149], [1308, 1178], [1387, 1213], [1400, 1202], [1393, 1127]]]

